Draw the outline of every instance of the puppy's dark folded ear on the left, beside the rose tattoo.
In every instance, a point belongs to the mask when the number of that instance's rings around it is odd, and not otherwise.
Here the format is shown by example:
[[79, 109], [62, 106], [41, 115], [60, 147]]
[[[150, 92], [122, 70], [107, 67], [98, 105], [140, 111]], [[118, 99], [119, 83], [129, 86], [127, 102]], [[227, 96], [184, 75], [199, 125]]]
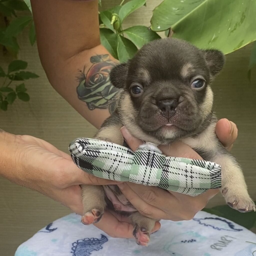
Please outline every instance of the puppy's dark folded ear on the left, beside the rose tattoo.
[[121, 63], [113, 67], [110, 71], [110, 82], [116, 88], [124, 88], [126, 85], [128, 63]]

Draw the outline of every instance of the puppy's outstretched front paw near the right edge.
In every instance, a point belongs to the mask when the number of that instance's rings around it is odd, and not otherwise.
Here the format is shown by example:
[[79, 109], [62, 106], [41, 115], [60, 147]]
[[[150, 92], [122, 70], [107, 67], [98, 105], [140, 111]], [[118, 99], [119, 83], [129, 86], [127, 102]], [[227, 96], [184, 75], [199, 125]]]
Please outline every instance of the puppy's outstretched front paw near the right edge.
[[224, 188], [222, 190], [222, 195], [224, 196], [227, 205], [235, 210], [240, 212], [256, 211], [255, 203], [250, 198], [247, 191], [241, 193], [241, 191], [233, 191], [232, 189]]

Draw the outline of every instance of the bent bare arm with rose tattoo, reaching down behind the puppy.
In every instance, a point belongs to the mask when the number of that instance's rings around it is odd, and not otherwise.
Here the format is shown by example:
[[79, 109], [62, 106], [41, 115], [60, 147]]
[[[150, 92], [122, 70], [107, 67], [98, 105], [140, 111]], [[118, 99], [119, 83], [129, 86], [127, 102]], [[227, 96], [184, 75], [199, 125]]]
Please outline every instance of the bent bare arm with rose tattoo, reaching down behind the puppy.
[[100, 44], [98, 1], [31, 0], [31, 6], [50, 84], [99, 128], [114, 108], [118, 89], [108, 76], [117, 61]]

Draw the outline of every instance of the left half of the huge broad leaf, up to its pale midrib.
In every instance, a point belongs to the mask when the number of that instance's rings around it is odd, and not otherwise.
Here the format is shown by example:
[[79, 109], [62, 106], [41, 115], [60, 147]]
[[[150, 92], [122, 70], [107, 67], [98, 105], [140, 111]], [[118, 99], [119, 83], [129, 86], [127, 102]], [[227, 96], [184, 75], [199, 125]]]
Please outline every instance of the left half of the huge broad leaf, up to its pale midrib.
[[[153, 10], [151, 29], [163, 31], [192, 12], [205, 0], [165, 0]], [[198, 17], [199, 18], [199, 17]]]

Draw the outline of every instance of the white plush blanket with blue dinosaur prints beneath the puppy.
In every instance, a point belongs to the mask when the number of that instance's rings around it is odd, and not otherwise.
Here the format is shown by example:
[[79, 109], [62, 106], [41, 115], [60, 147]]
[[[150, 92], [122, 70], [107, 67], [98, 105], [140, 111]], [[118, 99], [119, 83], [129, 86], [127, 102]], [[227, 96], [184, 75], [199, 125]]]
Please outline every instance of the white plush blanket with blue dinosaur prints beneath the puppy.
[[256, 251], [256, 234], [203, 211], [193, 220], [162, 220], [161, 225], [148, 247], [141, 247], [134, 239], [111, 238], [84, 226], [79, 215], [70, 214], [38, 231], [15, 256], [253, 256]]

